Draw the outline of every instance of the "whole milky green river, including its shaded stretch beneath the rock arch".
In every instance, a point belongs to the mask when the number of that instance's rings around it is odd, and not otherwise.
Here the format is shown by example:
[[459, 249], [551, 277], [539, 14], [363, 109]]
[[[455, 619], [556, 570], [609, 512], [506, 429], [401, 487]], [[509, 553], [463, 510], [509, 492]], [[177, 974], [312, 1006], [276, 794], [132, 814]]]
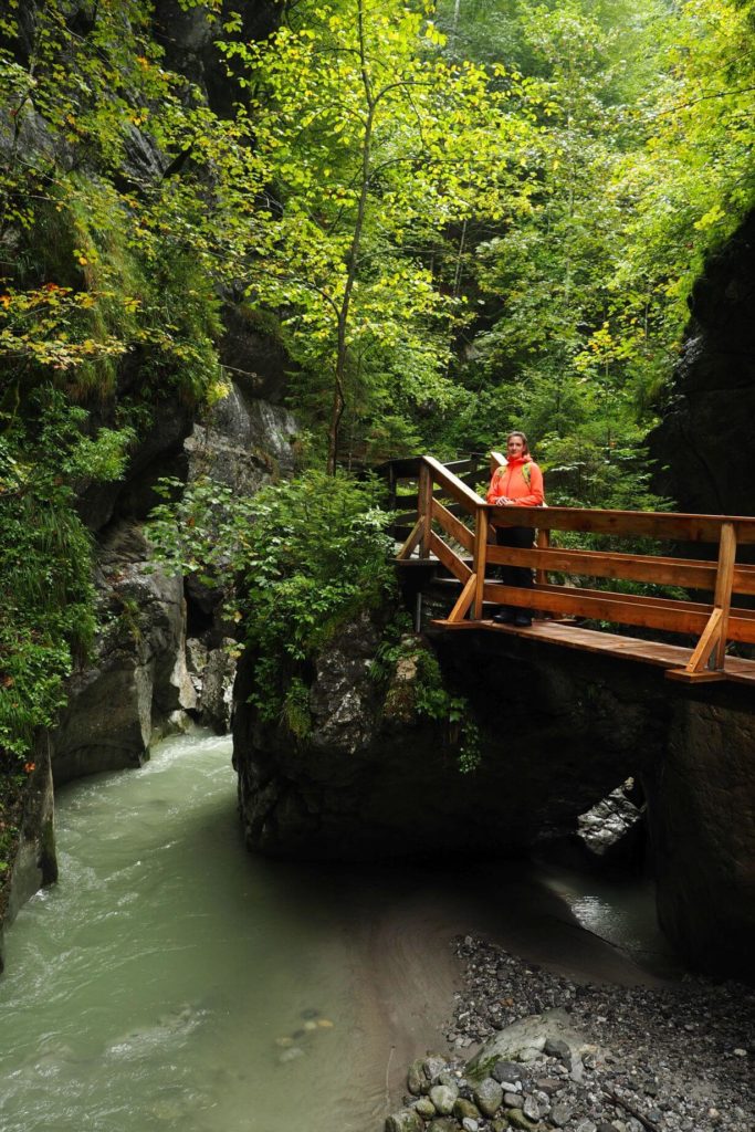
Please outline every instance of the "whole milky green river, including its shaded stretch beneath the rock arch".
[[61, 880], [6, 940], [2, 1132], [371, 1132], [444, 1048], [455, 934], [585, 979], [667, 962], [644, 886], [552, 863], [256, 858], [230, 757], [195, 732], [59, 791]]

